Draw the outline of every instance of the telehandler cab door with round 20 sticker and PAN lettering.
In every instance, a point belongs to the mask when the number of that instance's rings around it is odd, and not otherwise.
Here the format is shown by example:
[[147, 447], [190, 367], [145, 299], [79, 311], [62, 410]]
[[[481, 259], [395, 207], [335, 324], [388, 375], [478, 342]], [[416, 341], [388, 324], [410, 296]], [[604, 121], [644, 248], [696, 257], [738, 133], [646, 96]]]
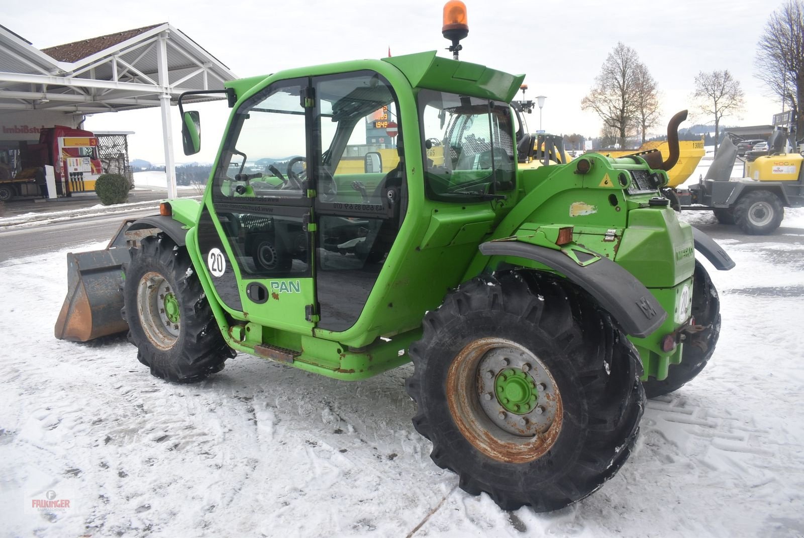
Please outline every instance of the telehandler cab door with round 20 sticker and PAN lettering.
[[305, 77], [271, 84], [236, 110], [198, 228], [200, 253], [230, 314], [297, 332], [315, 321], [306, 179], [312, 109]]

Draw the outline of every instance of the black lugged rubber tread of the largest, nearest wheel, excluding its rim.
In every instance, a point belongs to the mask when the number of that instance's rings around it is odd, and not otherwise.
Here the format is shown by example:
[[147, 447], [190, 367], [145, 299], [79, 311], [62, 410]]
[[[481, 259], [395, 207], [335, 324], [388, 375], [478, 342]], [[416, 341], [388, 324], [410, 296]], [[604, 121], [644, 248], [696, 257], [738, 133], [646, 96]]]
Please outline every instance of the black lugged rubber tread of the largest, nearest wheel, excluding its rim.
[[[585, 392], [588, 405], [578, 417], [564, 413], [564, 427], [574, 418], [585, 440], [580, 453], [568, 462], [564, 471], [539, 476], [538, 487], [527, 487], [527, 473], [544, 466], [545, 458], [557, 458], [550, 450], [542, 458], [526, 464], [496, 462], [474, 450], [460, 434], [445, 433], [449, 421], [433, 422], [429, 414], [438, 405], [438, 395], [429, 394], [427, 381], [432, 377], [429, 356], [445, 339], [450, 320], [482, 316], [488, 313], [518, 317], [543, 338], [550, 339], [579, 369], [589, 374]], [[609, 315], [594, 306], [593, 299], [575, 285], [552, 275], [510, 271], [490, 277], [478, 277], [462, 284], [445, 298], [444, 303], [425, 316], [421, 339], [410, 347], [413, 375], [407, 380], [408, 394], [416, 400], [413, 418], [416, 431], [433, 442], [431, 458], [438, 466], [459, 475], [461, 489], [471, 495], [488, 493], [503, 510], [530, 505], [536, 511], [565, 507], [591, 495], [611, 478], [628, 458], [638, 437], [638, 425], [644, 409], [644, 392], [638, 378], [642, 368], [633, 345], [614, 325]], [[473, 336], [470, 339], [478, 338]], [[603, 359], [603, 360], [601, 360]], [[451, 360], [451, 357], [449, 357]], [[610, 375], [602, 374], [604, 363]], [[571, 368], [571, 367], [568, 367]], [[593, 372], [597, 372], [593, 375]], [[445, 404], [443, 404], [445, 405]], [[449, 410], [446, 411], [449, 415]], [[588, 427], [593, 424], [593, 427]], [[470, 447], [467, 454], [466, 447]], [[471, 452], [474, 451], [474, 454]], [[551, 462], [552, 463], [552, 462]], [[519, 477], [517, 482], [508, 474]]]

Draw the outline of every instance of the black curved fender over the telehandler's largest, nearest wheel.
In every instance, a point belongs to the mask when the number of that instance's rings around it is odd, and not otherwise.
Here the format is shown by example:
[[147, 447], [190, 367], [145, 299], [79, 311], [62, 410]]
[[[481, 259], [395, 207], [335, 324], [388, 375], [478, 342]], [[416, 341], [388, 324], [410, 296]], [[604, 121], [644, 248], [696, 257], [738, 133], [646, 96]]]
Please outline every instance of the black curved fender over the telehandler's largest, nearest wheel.
[[642, 282], [608, 258], [581, 266], [560, 250], [519, 241], [487, 241], [479, 248], [486, 256], [538, 261], [564, 274], [591, 294], [627, 335], [645, 338], [667, 318], [667, 312]]

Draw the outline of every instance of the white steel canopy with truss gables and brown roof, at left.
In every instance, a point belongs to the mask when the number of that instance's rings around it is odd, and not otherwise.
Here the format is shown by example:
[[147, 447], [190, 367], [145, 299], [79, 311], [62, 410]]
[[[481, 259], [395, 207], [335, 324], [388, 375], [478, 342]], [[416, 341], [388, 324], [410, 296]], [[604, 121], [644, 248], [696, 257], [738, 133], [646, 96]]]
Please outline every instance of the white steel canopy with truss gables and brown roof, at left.
[[[168, 196], [176, 195], [170, 104], [189, 90], [217, 90], [229, 68], [170, 23], [39, 50], [0, 26], [0, 112], [95, 114], [159, 106]], [[190, 96], [187, 102], [220, 99]]]

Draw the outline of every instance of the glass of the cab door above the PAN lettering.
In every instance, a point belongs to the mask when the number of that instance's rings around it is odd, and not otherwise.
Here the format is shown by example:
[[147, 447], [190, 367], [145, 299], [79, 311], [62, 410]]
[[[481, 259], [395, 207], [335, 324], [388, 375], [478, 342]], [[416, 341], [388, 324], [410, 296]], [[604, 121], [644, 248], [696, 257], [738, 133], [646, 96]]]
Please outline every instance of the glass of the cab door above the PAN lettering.
[[269, 86], [236, 112], [213, 200], [245, 278], [310, 276], [307, 79]]

